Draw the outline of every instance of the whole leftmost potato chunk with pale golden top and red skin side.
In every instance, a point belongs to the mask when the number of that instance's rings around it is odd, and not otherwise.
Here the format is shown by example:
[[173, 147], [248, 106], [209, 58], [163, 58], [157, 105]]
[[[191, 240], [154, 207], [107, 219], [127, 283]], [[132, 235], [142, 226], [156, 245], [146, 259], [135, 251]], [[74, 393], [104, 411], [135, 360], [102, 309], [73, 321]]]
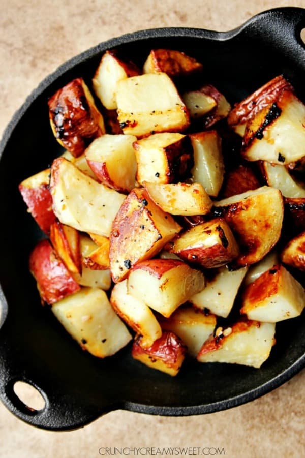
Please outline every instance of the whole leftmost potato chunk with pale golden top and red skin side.
[[50, 226], [55, 222], [52, 209], [52, 196], [49, 190], [50, 169], [43, 170], [23, 180], [19, 191], [40, 229], [49, 234]]

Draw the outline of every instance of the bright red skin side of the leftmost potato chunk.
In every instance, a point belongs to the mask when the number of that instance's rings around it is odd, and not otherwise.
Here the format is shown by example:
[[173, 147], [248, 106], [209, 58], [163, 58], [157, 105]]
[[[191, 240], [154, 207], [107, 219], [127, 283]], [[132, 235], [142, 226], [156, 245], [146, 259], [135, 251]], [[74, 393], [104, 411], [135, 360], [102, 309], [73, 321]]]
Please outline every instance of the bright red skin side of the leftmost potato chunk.
[[38, 188], [28, 188], [21, 184], [19, 191], [36, 223], [48, 235], [56, 219], [52, 210], [52, 196], [48, 185], [42, 184]]

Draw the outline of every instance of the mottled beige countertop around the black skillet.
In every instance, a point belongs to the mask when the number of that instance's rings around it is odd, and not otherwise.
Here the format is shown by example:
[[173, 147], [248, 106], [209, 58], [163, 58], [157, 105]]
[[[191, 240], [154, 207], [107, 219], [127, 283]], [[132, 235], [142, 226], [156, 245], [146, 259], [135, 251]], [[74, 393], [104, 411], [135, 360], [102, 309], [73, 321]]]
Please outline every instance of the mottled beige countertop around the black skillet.
[[[134, 30], [228, 30], [256, 13], [304, 0], [2, 0], [0, 134], [38, 83], [65, 60]], [[0, 456], [101, 456], [101, 447], [215, 447], [230, 457], [305, 456], [305, 372], [247, 405], [195, 417], [111, 412], [73, 432], [35, 429], [0, 405]], [[211, 454], [215, 453], [210, 449]], [[180, 455], [181, 456], [181, 455]], [[224, 456], [224, 455], [223, 455]]]

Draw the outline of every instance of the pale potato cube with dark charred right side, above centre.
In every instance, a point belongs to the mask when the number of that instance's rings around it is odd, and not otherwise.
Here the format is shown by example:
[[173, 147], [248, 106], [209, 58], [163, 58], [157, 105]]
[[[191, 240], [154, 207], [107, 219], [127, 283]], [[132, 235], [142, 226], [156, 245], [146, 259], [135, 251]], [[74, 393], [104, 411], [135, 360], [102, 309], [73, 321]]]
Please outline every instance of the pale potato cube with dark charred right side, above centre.
[[192, 166], [190, 140], [179, 133], [150, 135], [134, 143], [137, 181], [171, 183], [183, 179]]

